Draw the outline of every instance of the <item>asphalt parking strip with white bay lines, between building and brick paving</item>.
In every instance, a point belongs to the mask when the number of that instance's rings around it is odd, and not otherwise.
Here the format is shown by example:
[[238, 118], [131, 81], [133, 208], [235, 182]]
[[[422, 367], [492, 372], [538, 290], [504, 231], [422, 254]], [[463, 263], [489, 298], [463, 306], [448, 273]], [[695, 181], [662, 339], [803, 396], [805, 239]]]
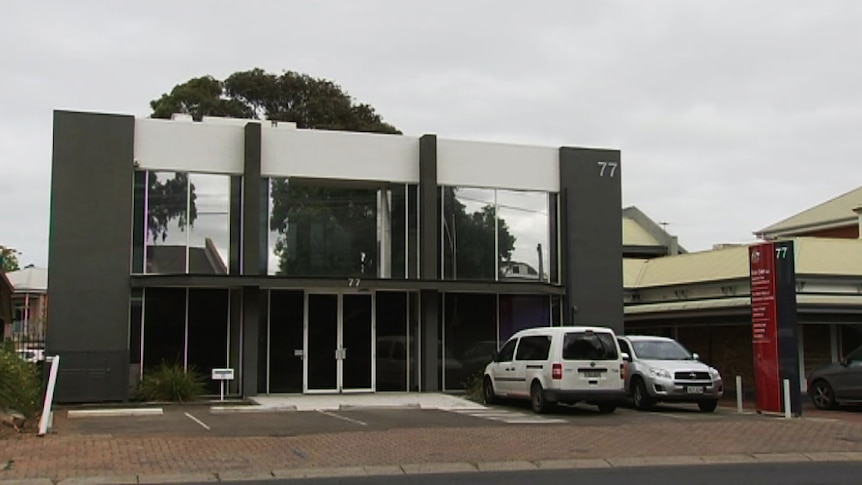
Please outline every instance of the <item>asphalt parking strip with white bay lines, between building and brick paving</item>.
[[128, 436], [301, 436], [316, 433], [380, 431], [406, 428], [468, 428], [519, 424], [580, 424], [626, 426], [656, 422], [703, 422], [764, 419], [739, 415], [719, 408], [702, 413], [696, 406], [660, 406], [651, 412], [618, 408], [601, 414], [595, 406], [560, 407], [536, 415], [521, 405], [489, 409], [442, 411], [429, 409], [341, 409], [331, 411], [281, 411], [212, 413], [206, 406], [167, 406], [163, 415], [134, 417], [55, 417], [55, 427], [65, 433]]

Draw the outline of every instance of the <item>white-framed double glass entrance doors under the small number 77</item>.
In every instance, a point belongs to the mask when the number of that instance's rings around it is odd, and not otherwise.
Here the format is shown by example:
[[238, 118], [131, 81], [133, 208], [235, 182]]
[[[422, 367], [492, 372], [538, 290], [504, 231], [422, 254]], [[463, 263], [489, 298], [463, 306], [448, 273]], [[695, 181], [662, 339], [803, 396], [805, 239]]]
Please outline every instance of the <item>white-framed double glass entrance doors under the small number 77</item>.
[[306, 392], [374, 390], [373, 307], [370, 294], [306, 294]]

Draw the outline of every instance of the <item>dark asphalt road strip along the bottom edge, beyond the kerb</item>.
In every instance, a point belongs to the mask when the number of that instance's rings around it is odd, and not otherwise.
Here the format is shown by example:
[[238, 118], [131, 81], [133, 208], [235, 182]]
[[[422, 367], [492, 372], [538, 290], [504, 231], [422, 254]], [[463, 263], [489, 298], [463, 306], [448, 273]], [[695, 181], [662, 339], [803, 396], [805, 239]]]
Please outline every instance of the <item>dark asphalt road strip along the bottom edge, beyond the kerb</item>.
[[[709, 466], [661, 466], [633, 468], [598, 468], [581, 470], [541, 470], [508, 473], [468, 472], [442, 475], [397, 475], [360, 478], [325, 478], [307, 480], [267, 480], [236, 482], [244, 485], [570, 485], [572, 483], [631, 485], [633, 483], [687, 485], [839, 485], [860, 483], [862, 463], [775, 463]], [[231, 483], [231, 482], [224, 482]]]

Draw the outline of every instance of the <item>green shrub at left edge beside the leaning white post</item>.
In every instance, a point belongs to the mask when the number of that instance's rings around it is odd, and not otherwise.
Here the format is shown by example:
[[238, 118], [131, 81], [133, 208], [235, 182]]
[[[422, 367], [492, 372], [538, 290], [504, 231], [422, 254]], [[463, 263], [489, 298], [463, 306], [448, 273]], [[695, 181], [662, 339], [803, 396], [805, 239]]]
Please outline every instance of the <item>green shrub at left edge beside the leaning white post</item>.
[[23, 360], [13, 348], [0, 346], [0, 411], [18, 411], [32, 418], [39, 411], [42, 381], [36, 364]]

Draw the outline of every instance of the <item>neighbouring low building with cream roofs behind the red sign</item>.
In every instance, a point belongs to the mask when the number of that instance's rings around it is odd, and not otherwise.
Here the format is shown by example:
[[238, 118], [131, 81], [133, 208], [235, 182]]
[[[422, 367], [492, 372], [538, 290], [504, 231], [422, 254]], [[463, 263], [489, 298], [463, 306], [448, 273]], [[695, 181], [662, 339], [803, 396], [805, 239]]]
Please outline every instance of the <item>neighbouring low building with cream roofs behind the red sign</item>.
[[[862, 345], [862, 188], [755, 234], [794, 241], [802, 389], [813, 368]], [[679, 339], [753, 392], [747, 244], [650, 260], [625, 258], [627, 333]], [[748, 387], [746, 387], [748, 386]]]

